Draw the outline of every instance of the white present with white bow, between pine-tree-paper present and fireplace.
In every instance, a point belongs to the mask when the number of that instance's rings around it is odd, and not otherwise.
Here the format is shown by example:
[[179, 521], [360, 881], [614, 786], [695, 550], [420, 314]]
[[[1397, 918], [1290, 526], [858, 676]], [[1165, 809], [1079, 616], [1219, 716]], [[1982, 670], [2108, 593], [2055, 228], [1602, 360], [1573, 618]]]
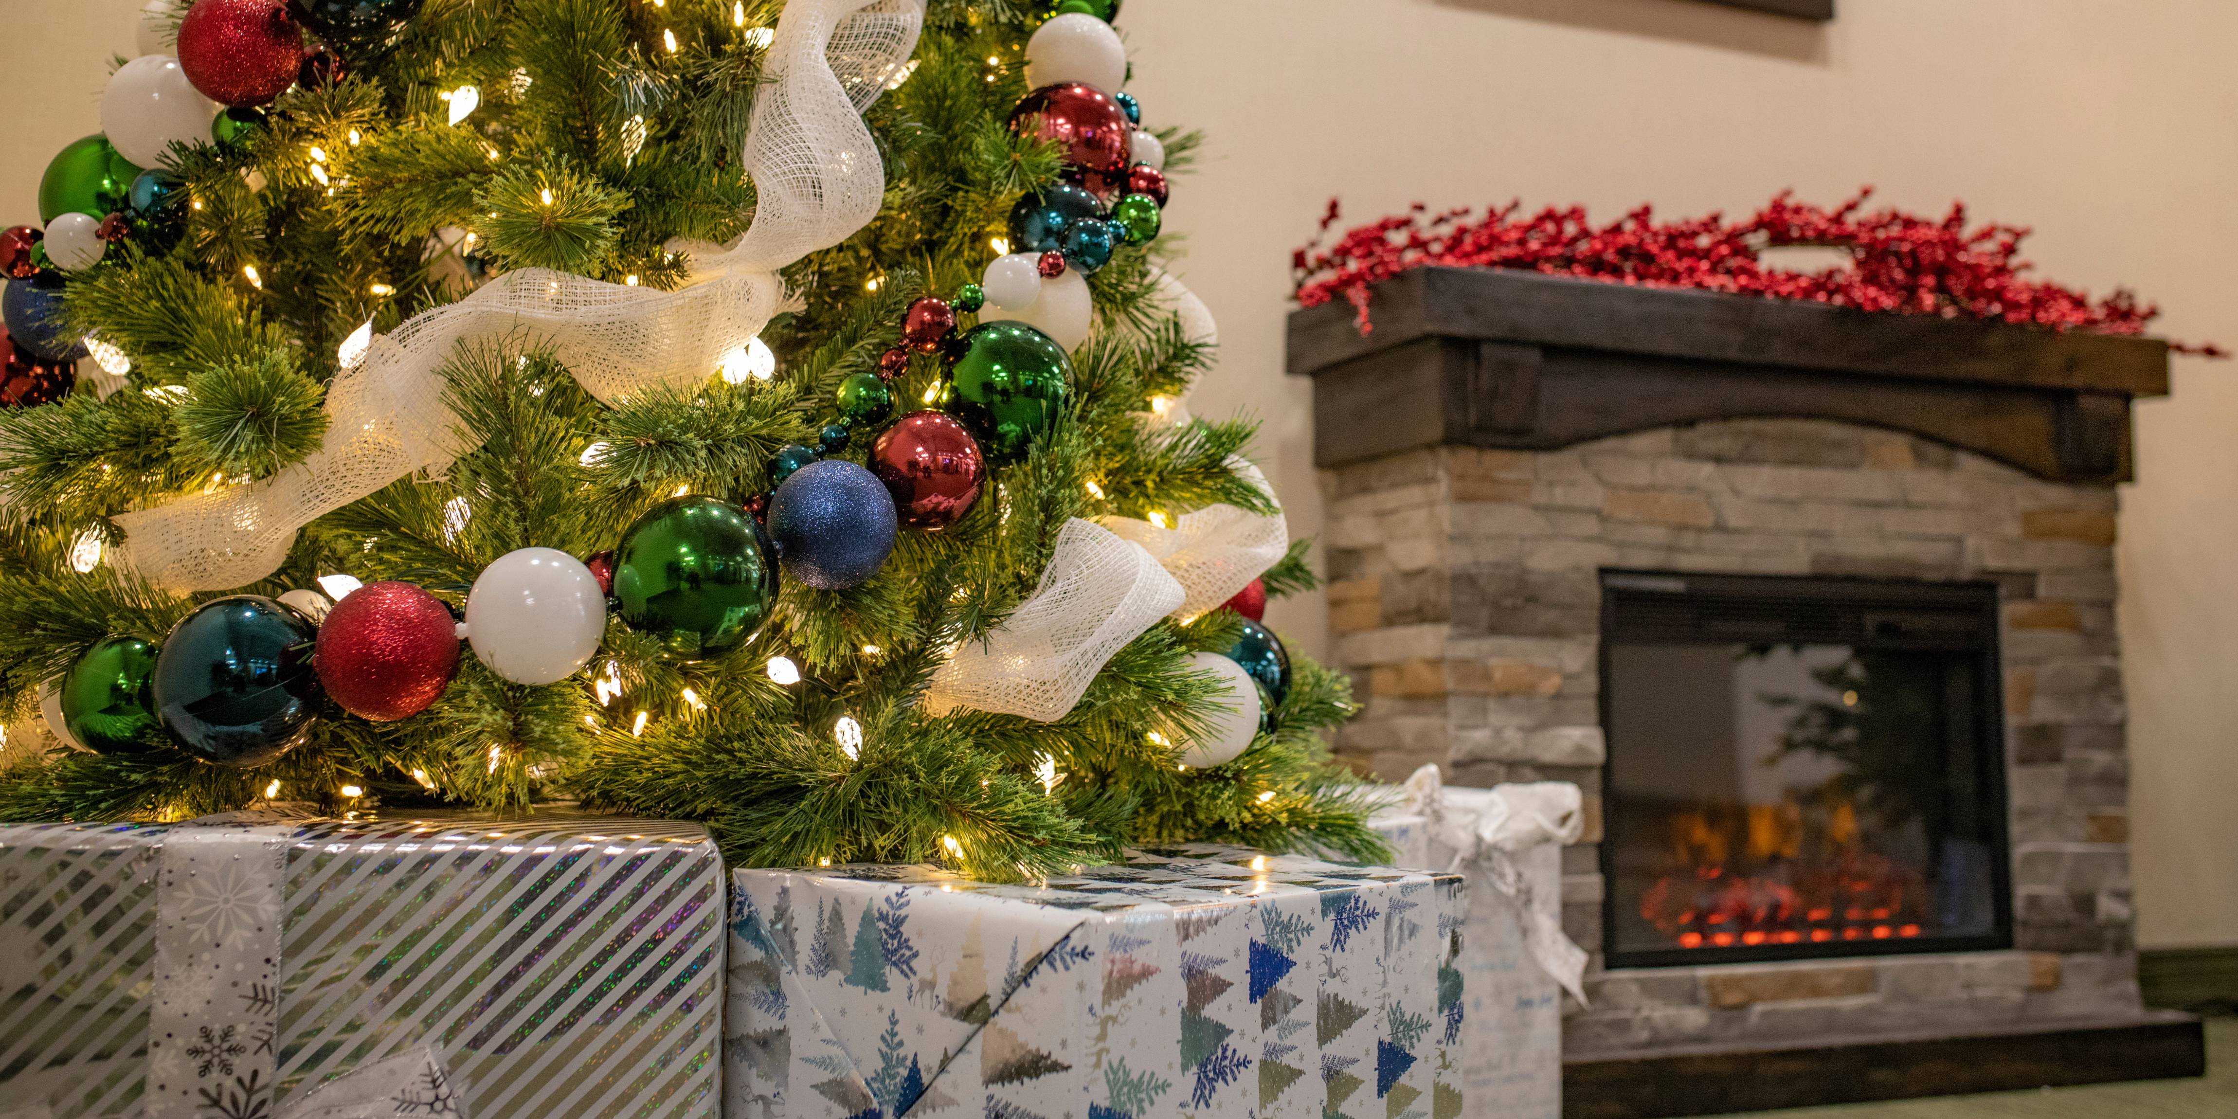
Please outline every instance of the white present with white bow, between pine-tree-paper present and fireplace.
[[1423, 765], [1372, 826], [1399, 866], [1468, 880], [1468, 1036], [1455, 1076], [1470, 1117], [1560, 1119], [1562, 991], [1585, 1000], [1587, 960], [1562, 933], [1562, 846], [1585, 830], [1578, 786], [1446, 788]]

